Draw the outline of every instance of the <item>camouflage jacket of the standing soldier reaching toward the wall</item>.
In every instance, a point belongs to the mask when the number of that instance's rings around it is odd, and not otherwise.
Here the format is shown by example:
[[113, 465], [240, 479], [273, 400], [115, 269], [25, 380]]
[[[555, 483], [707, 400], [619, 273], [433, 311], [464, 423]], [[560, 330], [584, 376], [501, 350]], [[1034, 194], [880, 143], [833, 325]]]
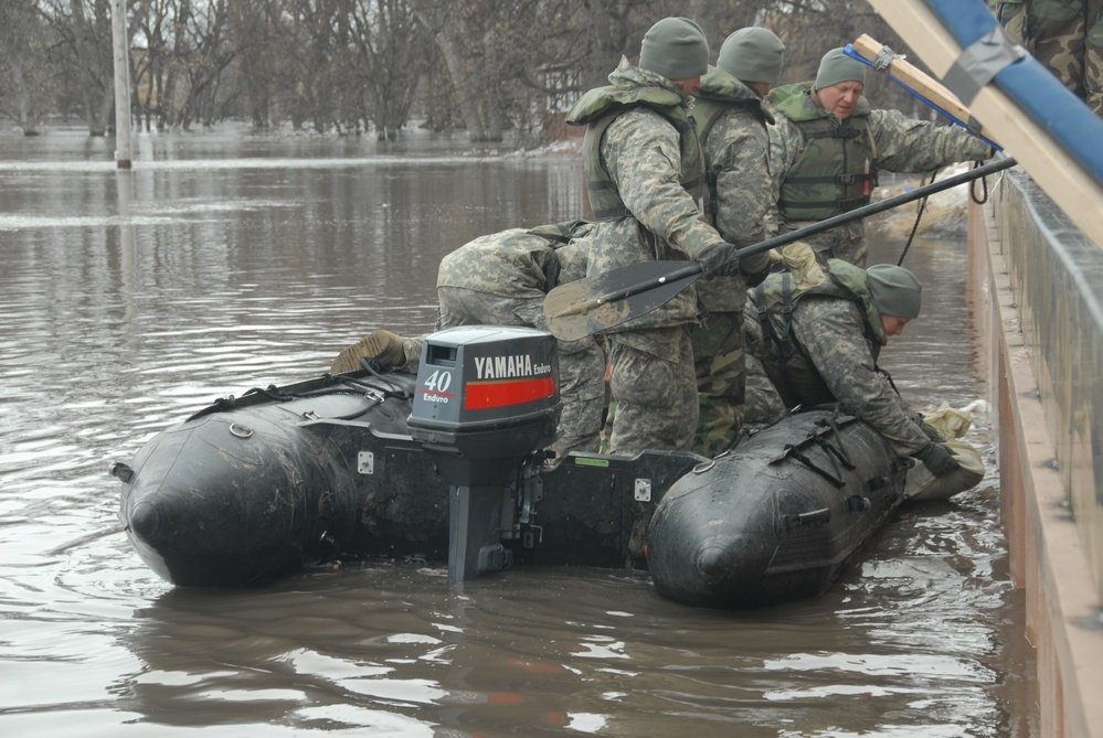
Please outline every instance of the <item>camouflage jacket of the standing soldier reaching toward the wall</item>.
[[[808, 121], [834, 119], [812, 99], [812, 83], [797, 83], [778, 87], [770, 94], [771, 101], [788, 100], [786, 107], [799, 104]], [[807, 141], [802, 130], [802, 121], [775, 110], [777, 125], [770, 128], [770, 171], [773, 197], [781, 200], [782, 189], [788, 177], [800, 175], [797, 163], [800, 161]], [[956, 126], [936, 126], [929, 121], [909, 118], [899, 110], [872, 109], [865, 97], [856, 108], [856, 115], [865, 118], [865, 135], [855, 142], [853, 156], [868, 158], [870, 167], [890, 172], [925, 172], [958, 161], [985, 160], [991, 156], [991, 147]], [[862, 161], [865, 164], [865, 161]], [[840, 172], [841, 173], [841, 172]], [[809, 221], [792, 220], [778, 213], [784, 227], [798, 228]], [[817, 218], [818, 220], [818, 218]], [[862, 221], [855, 221], [808, 238], [817, 250], [834, 248], [838, 243], [861, 240], [865, 236]], [[837, 256], [844, 254], [837, 253]], [[850, 259], [848, 259], [850, 260]], [[865, 266], [865, 248], [860, 252], [858, 266]]]

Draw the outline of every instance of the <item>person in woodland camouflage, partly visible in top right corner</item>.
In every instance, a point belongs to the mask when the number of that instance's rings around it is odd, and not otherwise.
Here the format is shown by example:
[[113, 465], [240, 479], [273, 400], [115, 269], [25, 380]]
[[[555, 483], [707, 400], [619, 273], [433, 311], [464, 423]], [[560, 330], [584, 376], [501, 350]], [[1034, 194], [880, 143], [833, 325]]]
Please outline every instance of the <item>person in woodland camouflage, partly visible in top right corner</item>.
[[1103, 116], [1103, 0], [988, 0], [1007, 35]]

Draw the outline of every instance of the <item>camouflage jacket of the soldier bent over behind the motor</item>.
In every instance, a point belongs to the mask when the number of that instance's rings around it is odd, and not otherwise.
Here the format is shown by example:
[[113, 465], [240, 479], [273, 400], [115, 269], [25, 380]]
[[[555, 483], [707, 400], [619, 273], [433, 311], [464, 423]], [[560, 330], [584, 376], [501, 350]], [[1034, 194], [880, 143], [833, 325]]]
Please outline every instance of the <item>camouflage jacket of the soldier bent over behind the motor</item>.
[[[583, 276], [585, 253], [574, 239], [592, 229], [593, 224], [577, 221], [479, 236], [441, 259], [436, 286], [543, 299], [555, 285]], [[570, 258], [560, 259], [558, 249], [572, 245], [564, 255]]]

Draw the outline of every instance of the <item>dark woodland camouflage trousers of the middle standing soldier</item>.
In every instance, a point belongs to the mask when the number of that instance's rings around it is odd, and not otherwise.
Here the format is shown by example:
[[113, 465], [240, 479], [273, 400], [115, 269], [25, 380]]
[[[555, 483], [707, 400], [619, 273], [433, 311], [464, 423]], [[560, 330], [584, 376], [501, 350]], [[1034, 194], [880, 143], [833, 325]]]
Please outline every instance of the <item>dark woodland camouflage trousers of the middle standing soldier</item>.
[[691, 333], [700, 417], [693, 451], [714, 457], [735, 441], [746, 411], [743, 313], [713, 312]]

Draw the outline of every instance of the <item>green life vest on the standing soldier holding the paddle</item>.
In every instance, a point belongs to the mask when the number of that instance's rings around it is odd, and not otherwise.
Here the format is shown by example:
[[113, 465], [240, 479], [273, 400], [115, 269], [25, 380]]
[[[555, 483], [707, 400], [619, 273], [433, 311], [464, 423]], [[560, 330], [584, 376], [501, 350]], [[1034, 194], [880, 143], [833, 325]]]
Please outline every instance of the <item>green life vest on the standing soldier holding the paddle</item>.
[[681, 185], [693, 200], [703, 195], [704, 157], [693, 132], [693, 122], [682, 106], [681, 95], [661, 87], [595, 87], [579, 99], [566, 118], [566, 122], [572, 126], [586, 126], [586, 135], [582, 139], [582, 167], [586, 178], [586, 195], [595, 221], [613, 221], [632, 215], [605, 168], [601, 143], [609, 125], [618, 116], [636, 107], [654, 110], [675, 127], [681, 151]]

